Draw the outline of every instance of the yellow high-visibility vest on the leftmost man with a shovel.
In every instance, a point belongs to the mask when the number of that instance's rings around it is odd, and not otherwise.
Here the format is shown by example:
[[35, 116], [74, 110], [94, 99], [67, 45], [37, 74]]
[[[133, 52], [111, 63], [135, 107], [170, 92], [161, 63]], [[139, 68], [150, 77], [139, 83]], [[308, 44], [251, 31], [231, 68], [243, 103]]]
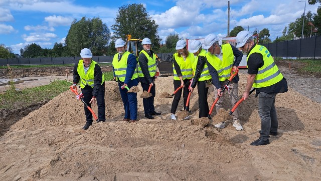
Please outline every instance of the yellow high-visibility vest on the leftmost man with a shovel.
[[[84, 69], [84, 61], [81, 59], [79, 60], [78, 67], [77, 67], [77, 72], [78, 75], [80, 76], [80, 87], [85, 88], [86, 85], [89, 85], [91, 88], [94, 88], [94, 70], [97, 62], [91, 60], [91, 64], [89, 66], [89, 69], [87, 71], [87, 74], [85, 74], [85, 69]], [[103, 84], [105, 82], [105, 76], [102, 74], [102, 82]]]

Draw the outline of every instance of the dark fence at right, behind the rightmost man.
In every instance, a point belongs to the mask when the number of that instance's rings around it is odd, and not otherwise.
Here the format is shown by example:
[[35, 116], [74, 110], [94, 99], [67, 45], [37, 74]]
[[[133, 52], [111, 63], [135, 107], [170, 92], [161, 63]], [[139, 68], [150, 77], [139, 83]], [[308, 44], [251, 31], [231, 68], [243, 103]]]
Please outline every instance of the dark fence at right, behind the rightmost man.
[[263, 44], [274, 57], [321, 59], [321, 37]]

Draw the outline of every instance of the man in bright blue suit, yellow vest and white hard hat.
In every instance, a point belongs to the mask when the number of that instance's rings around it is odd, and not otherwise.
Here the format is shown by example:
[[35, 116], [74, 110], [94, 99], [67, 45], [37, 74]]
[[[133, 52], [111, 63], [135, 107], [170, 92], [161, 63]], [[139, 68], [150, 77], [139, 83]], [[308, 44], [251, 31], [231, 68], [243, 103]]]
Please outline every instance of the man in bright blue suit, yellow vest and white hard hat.
[[118, 82], [119, 92], [124, 104], [125, 116], [123, 121], [137, 121], [137, 93], [128, 92], [125, 87], [131, 88], [138, 85], [138, 72], [136, 57], [125, 50], [126, 43], [122, 39], [115, 41], [118, 53], [114, 55], [112, 67], [114, 80]]

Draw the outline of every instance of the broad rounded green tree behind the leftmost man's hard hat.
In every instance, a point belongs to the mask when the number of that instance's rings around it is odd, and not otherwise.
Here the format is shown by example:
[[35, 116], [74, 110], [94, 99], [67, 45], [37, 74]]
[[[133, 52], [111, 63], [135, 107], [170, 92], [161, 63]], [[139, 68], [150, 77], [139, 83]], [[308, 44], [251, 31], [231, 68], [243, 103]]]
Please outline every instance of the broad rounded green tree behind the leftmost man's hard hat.
[[90, 49], [94, 56], [100, 56], [105, 53], [109, 39], [110, 30], [100, 18], [82, 17], [78, 22], [76, 19], [72, 22], [65, 44], [73, 56], [79, 56], [83, 48]]

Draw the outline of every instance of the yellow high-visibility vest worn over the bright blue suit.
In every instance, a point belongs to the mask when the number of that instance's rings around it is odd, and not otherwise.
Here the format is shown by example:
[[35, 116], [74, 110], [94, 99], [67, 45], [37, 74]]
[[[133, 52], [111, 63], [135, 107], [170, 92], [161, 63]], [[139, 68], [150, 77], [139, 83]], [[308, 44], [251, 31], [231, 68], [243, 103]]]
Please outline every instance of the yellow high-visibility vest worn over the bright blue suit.
[[[122, 55], [120, 61], [118, 62], [119, 53], [116, 53], [114, 55], [114, 58], [112, 59], [112, 66], [114, 67], [115, 75], [117, 77], [117, 80], [121, 82], [125, 81], [126, 70], [127, 70], [127, 59], [129, 55], [130, 53], [126, 51]], [[137, 77], [138, 77], [137, 69], [135, 69], [134, 74], [131, 77], [131, 80], [136, 79]]]

